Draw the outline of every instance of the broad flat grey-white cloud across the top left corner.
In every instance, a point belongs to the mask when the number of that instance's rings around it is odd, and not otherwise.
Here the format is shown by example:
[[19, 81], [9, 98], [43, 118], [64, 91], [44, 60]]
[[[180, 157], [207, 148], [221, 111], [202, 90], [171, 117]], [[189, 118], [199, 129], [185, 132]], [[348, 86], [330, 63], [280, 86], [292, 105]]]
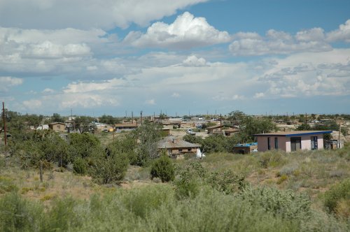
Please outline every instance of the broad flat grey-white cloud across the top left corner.
[[11, 0], [0, 1], [3, 27], [77, 29], [146, 26], [152, 20], [207, 0]]

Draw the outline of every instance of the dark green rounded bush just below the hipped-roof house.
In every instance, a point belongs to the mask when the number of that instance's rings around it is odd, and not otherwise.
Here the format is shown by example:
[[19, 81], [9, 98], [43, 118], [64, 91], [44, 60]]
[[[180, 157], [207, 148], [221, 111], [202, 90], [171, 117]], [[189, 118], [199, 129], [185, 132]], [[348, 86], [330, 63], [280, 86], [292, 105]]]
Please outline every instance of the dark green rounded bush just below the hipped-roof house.
[[169, 182], [175, 178], [175, 170], [170, 158], [162, 154], [156, 159], [151, 168], [151, 179], [159, 177], [162, 182]]

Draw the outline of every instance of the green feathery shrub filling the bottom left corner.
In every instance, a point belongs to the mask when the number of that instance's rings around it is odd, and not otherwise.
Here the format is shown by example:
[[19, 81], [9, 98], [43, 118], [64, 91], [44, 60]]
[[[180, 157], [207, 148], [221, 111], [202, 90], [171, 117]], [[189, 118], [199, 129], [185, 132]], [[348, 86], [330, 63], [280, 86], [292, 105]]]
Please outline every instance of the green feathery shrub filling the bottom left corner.
[[17, 193], [0, 198], [0, 231], [38, 231], [43, 208]]

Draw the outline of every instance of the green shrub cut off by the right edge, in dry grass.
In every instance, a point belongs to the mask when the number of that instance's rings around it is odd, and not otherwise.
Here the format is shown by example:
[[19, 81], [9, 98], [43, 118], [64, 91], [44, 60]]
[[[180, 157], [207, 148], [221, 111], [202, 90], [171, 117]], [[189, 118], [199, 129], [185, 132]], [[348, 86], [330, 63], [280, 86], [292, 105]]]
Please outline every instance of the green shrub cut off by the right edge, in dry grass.
[[[329, 212], [336, 212], [337, 204], [344, 200], [350, 201], [350, 179], [333, 185], [323, 196], [323, 205]], [[344, 201], [342, 201], [344, 204]], [[339, 203], [340, 204], [340, 203]], [[339, 205], [339, 207], [342, 207]]]

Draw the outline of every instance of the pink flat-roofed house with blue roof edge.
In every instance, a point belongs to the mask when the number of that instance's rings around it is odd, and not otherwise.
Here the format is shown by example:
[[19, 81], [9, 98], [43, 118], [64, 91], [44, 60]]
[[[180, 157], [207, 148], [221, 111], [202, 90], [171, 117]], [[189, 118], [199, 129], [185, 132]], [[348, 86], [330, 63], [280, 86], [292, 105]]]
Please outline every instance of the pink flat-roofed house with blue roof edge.
[[258, 151], [283, 150], [295, 152], [297, 150], [323, 149], [323, 134], [332, 131], [282, 131], [274, 133], [258, 133], [254, 136], [258, 140]]

